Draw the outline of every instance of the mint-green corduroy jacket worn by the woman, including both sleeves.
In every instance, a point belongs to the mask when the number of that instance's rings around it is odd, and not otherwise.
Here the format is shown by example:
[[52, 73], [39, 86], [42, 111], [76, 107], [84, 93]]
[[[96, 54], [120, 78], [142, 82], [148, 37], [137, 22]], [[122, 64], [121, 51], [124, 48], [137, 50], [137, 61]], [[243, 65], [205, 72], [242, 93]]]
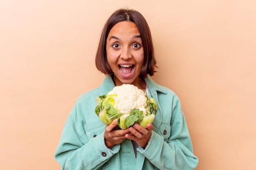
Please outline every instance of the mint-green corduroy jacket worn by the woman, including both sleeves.
[[129, 139], [112, 149], [104, 143], [106, 125], [94, 109], [96, 97], [115, 87], [108, 75], [77, 99], [67, 117], [55, 152], [63, 170], [193, 170], [198, 165], [179, 98], [149, 76], [145, 81], [159, 109], [148, 145], [138, 146], [137, 158]]

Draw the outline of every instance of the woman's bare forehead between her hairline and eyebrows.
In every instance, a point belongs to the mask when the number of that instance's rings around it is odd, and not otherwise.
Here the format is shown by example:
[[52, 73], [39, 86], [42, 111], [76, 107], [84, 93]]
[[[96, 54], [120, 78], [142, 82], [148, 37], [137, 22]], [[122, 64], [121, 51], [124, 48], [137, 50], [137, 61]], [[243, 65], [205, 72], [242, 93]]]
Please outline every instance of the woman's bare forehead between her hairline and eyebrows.
[[118, 22], [112, 27], [108, 34], [108, 37], [110, 37], [111, 35], [123, 36], [130, 34], [140, 35], [139, 28], [134, 22], [122, 21]]

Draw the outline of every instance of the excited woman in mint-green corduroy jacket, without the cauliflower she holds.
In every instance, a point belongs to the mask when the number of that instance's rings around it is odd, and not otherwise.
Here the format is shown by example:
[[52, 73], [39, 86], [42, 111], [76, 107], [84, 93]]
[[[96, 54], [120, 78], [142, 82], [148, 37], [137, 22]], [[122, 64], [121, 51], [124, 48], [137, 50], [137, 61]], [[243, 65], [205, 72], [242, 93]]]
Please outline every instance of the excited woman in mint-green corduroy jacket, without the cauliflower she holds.
[[[191, 170], [198, 164], [180, 100], [149, 75], [156, 67], [148, 24], [137, 11], [119, 9], [106, 22], [96, 66], [101, 86], [79, 97], [69, 114], [55, 157], [64, 170]], [[95, 98], [115, 86], [133, 84], [153, 97], [159, 110], [147, 128], [116, 130], [94, 113]]]

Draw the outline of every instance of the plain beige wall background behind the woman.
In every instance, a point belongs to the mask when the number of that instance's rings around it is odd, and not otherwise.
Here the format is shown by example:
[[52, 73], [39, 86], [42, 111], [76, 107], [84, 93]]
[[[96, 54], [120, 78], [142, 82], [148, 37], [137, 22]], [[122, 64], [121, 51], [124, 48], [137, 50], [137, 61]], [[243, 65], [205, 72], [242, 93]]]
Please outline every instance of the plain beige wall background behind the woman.
[[181, 99], [197, 170], [255, 170], [255, 0], [0, 0], [1, 169], [60, 169], [65, 119], [101, 84], [99, 36], [122, 7], [148, 21], [153, 79]]

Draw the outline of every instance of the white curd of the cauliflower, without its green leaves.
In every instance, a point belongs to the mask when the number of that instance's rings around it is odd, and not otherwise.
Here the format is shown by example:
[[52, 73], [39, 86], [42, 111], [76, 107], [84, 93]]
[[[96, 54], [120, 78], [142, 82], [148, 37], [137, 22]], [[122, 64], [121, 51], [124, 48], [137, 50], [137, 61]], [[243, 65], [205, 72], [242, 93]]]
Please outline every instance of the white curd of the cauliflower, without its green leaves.
[[134, 108], [143, 111], [144, 116], [147, 113], [145, 108], [147, 106], [147, 98], [144, 91], [136, 86], [130, 84], [116, 86], [108, 95], [113, 95], [112, 97], [115, 99], [114, 107], [119, 110], [124, 117], [128, 116]]

